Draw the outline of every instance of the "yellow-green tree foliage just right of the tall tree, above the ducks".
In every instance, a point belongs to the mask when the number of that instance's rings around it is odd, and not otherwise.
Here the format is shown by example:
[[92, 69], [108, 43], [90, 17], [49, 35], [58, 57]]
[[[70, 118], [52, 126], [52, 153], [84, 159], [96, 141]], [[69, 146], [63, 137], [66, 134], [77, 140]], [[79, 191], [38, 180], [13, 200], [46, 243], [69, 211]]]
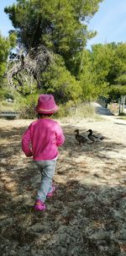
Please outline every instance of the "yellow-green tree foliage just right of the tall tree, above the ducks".
[[104, 95], [106, 92], [106, 68], [101, 67], [101, 62], [102, 60], [100, 60], [100, 56], [97, 57], [96, 52], [83, 50], [79, 79], [81, 81], [82, 99], [84, 101], [94, 101], [98, 95]]

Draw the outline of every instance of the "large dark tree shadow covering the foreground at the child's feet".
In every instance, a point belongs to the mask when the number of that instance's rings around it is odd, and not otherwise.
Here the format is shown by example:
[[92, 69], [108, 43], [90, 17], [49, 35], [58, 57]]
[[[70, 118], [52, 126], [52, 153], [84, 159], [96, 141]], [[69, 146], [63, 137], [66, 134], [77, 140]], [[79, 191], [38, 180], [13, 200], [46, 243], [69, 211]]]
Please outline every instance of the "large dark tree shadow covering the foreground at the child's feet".
[[14, 199], [3, 191], [2, 255], [121, 255], [125, 193], [123, 187], [60, 182], [47, 210], [34, 212], [19, 194]]

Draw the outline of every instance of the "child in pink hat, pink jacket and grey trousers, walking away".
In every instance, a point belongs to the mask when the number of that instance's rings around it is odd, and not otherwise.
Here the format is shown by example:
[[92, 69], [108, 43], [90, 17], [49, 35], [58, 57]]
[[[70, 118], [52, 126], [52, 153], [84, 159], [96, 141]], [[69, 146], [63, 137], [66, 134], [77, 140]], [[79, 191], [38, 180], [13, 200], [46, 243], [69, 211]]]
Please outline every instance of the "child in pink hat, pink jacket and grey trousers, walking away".
[[65, 136], [59, 123], [50, 117], [58, 111], [53, 95], [39, 95], [36, 112], [39, 119], [29, 125], [22, 137], [22, 150], [27, 157], [39, 167], [41, 183], [38, 190], [34, 210], [45, 210], [45, 199], [55, 192], [52, 178], [55, 174], [55, 164], [58, 157], [58, 147], [65, 141]]

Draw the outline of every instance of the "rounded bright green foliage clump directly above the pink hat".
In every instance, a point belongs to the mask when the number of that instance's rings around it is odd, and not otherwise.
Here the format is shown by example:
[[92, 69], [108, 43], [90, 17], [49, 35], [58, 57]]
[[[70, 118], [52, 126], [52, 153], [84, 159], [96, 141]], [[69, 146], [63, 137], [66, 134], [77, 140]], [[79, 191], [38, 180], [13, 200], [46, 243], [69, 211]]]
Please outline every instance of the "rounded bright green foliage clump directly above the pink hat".
[[42, 81], [43, 93], [52, 93], [58, 102], [76, 101], [81, 95], [80, 82], [71, 76], [58, 56], [42, 74]]

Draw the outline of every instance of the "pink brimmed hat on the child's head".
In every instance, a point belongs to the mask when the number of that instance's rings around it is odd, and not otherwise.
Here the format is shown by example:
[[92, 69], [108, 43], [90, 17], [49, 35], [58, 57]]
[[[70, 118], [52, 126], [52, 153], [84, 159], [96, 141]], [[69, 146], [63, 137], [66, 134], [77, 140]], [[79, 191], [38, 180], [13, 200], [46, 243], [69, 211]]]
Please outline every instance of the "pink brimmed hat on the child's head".
[[53, 114], [57, 112], [59, 107], [55, 104], [53, 95], [39, 95], [38, 105], [35, 110], [42, 114]]

